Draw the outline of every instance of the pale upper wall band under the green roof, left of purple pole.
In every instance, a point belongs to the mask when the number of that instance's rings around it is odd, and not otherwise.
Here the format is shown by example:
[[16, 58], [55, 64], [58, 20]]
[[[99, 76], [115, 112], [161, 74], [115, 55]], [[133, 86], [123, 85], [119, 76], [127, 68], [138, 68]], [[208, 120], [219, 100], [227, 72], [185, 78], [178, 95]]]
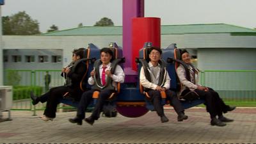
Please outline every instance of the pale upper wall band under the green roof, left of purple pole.
[[99, 48], [108, 47], [109, 42], [122, 45], [122, 35], [101, 36], [3, 36], [3, 49], [63, 49], [63, 63], [72, 61], [72, 51], [92, 43]]

